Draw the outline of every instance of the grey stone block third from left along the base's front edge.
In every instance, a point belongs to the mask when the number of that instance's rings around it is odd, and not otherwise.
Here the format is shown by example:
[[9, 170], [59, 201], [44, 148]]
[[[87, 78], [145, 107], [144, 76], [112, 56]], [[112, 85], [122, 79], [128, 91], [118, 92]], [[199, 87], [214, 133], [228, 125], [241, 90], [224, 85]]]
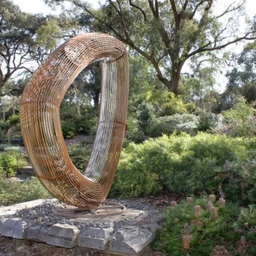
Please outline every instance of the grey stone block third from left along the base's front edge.
[[65, 248], [73, 248], [78, 245], [80, 230], [69, 224], [54, 224], [49, 228], [46, 243]]

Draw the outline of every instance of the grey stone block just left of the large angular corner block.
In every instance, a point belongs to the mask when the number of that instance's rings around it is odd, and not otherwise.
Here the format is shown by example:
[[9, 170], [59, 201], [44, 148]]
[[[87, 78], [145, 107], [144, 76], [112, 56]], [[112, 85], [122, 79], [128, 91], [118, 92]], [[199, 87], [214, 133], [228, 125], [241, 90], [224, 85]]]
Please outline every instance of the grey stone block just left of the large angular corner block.
[[112, 235], [112, 227], [105, 229], [85, 227], [78, 236], [78, 245], [79, 247], [105, 250]]

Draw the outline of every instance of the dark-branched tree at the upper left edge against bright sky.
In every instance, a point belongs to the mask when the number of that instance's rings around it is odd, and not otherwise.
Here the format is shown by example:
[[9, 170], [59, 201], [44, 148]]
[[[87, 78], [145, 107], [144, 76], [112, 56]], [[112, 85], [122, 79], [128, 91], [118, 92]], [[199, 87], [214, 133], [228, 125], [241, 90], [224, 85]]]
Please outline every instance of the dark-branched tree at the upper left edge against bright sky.
[[9, 0], [0, 0], [0, 5], [0, 90], [3, 90], [15, 73], [32, 73], [29, 62], [44, 59], [46, 51], [38, 45], [36, 32], [46, 18], [23, 13]]

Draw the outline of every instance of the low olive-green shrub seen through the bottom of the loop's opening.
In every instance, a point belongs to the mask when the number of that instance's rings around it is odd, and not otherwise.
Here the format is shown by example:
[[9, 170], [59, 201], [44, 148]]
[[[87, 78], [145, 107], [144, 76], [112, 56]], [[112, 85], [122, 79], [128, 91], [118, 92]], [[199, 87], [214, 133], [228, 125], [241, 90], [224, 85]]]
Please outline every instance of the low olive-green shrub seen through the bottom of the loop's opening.
[[90, 148], [84, 143], [77, 143], [67, 149], [73, 165], [79, 169], [79, 172], [84, 173], [87, 162], [90, 159]]

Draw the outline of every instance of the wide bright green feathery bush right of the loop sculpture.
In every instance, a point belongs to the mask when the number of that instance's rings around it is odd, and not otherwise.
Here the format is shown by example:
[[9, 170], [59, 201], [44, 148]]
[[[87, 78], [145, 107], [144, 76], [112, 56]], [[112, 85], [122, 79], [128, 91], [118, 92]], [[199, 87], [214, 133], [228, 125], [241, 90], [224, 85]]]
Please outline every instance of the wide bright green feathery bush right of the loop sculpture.
[[[191, 195], [221, 189], [230, 201], [253, 201], [255, 148], [254, 139], [207, 133], [131, 143], [122, 151], [110, 196], [129, 198], [162, 190]], [[229, 168], [227, 163], [232, 163]]]

